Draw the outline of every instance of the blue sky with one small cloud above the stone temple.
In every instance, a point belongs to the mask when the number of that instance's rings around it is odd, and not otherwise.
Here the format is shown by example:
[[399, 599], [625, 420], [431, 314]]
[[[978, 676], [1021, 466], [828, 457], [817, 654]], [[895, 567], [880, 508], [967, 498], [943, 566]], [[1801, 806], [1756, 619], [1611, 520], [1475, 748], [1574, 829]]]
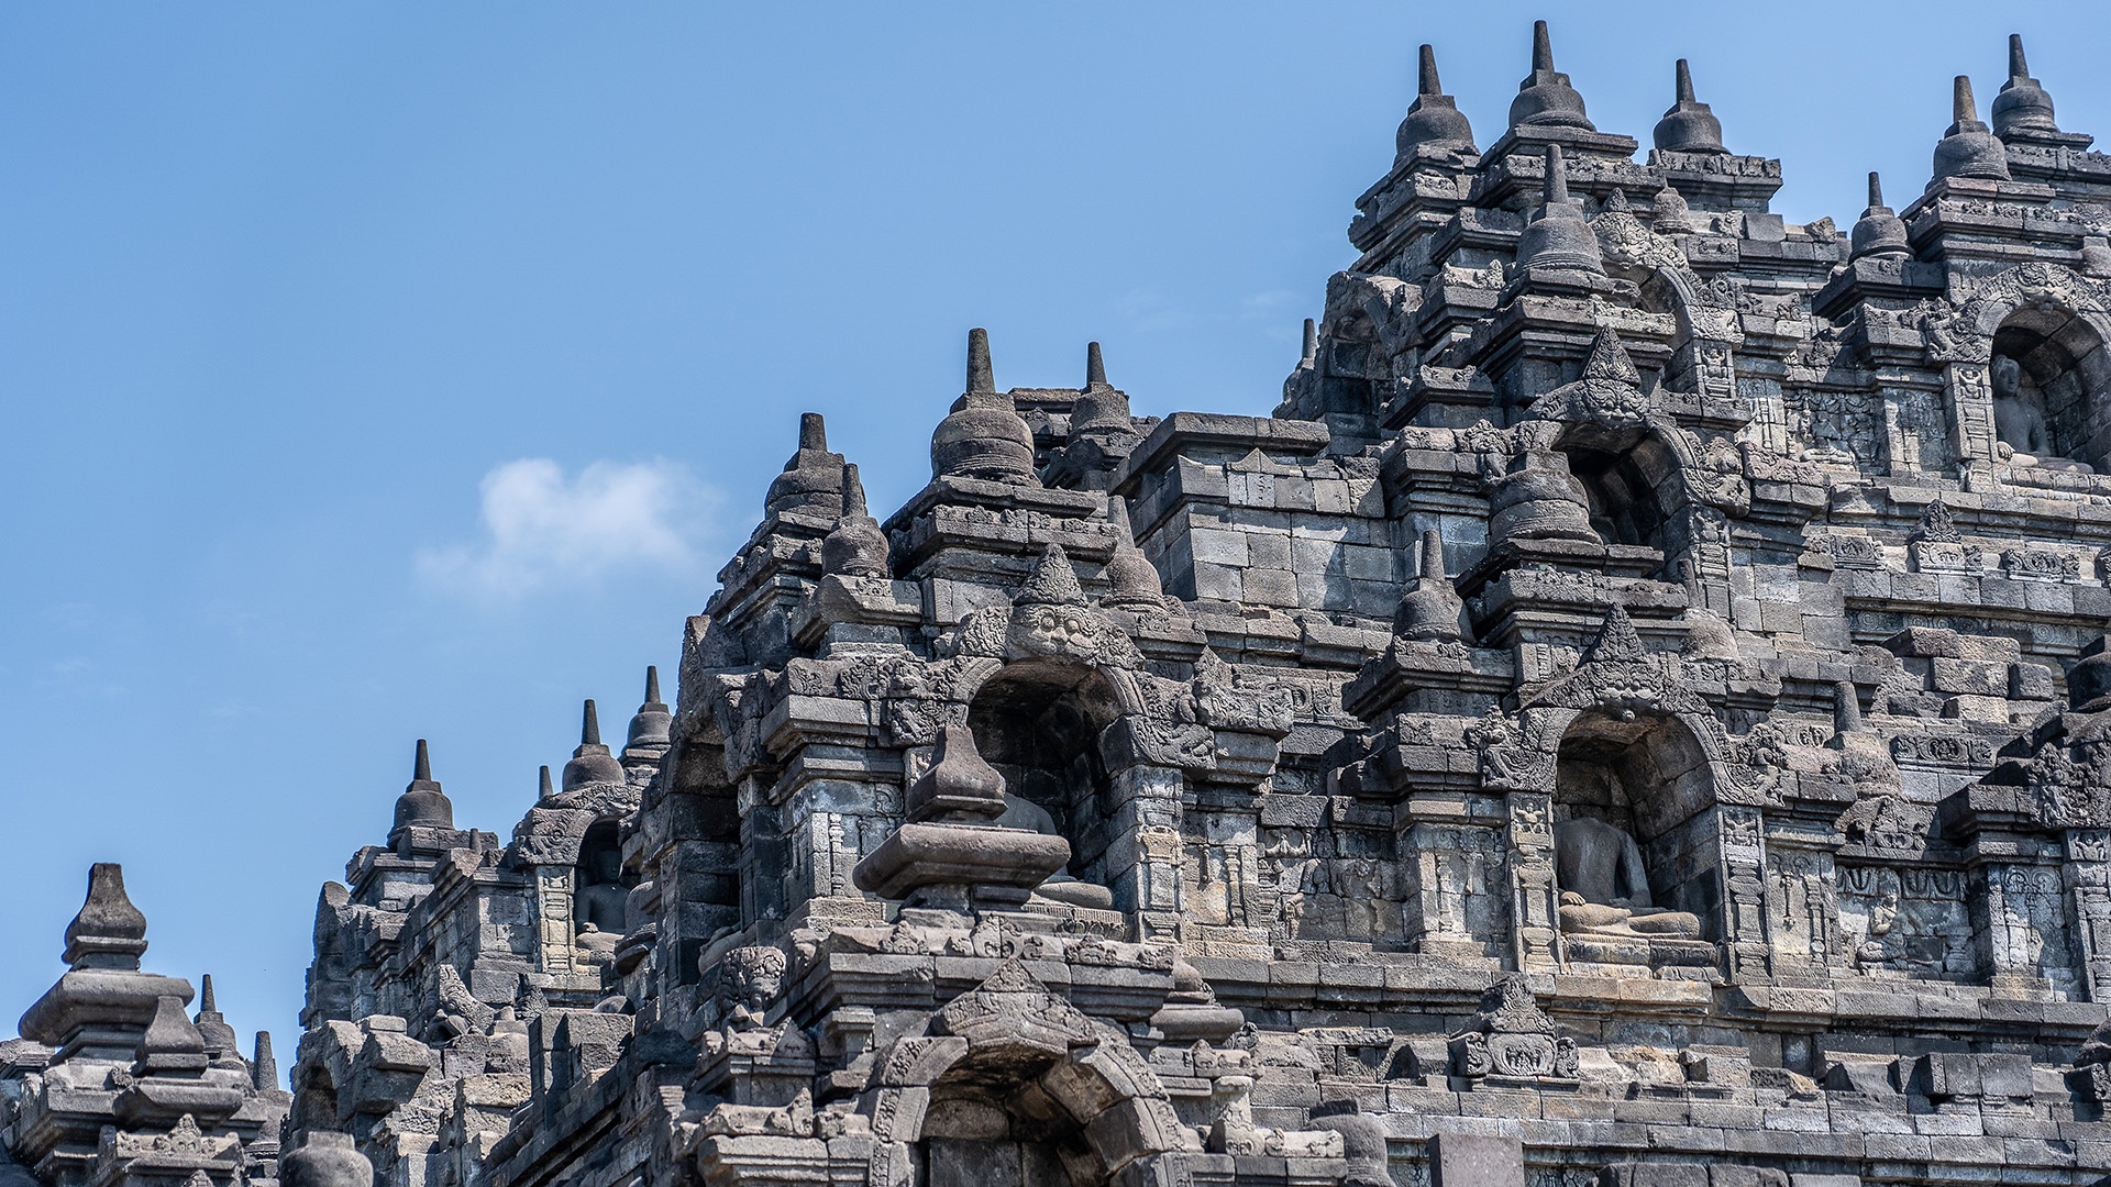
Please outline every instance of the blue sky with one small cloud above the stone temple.
[[412, 741], [509, 834], [581, 697], [621, 733], [671, 674], [798, 412], [880, 513], [923, 484], [969, 325], [1005, 387], [1098, 338], [1140, 412], [1264, 414], [1423, 40], [1484, 146], [1535, 15], [1644, 146], [1691, 57], [1796, 222], [1910, 201], [2008, 32], [2111, 135], [2086, 4], [1583, 11], [0, 11], [0, 1018], [118, 860], [148, 963], [289, 1060]]

